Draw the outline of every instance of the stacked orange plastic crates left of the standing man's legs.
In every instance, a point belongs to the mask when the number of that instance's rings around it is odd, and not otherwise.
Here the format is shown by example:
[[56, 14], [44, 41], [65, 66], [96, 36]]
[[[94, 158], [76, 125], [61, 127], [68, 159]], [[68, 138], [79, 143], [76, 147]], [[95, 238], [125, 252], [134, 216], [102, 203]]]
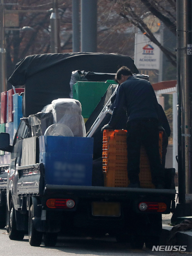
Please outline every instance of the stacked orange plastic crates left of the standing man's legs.
[[103, 173], [105, 187], [127, 187], [126, 130], [103, 131]]

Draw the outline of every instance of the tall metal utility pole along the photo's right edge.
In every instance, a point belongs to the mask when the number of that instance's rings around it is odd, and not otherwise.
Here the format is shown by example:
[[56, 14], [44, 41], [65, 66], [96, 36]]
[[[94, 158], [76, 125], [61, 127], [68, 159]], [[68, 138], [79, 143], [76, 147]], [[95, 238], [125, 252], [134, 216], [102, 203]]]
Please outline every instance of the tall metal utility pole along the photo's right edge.
[[192, 5], [177, 0], [178, 197], [172, 219], [191, 216]]

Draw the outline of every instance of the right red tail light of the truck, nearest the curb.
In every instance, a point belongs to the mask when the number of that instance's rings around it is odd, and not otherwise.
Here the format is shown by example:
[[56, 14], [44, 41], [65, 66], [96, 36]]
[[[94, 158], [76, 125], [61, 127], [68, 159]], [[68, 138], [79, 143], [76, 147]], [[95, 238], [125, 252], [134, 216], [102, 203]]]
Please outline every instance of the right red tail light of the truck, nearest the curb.
[[165, 203], [156, 202], [141, 202], [139, 204], [139, 210], [145, 212], [164, 212], [167, 209]]

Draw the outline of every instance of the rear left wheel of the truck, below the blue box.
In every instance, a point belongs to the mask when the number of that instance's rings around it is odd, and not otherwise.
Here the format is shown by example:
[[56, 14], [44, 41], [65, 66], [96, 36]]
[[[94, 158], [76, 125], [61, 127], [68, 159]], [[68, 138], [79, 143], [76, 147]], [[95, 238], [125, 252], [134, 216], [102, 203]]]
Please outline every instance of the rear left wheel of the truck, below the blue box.
[[32, 204], [29, 210], [29, 226], [28, 226], [29, 243], [31, 246], [40, 246], [42, 242], [43, 233], [35, 229], [34, 223], [33, 223], [33, 217], [34, 217], [34, 214], [33, 214], [33, 204]]

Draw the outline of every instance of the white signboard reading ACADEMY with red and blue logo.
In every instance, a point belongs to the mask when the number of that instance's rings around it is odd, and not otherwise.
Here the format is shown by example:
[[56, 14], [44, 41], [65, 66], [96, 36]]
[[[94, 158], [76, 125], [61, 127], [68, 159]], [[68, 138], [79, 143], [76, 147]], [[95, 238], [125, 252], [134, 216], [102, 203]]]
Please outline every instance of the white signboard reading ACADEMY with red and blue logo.
[[[161, 42], [161, 35], [154, 34]], [[139, 69], [158, 69], [160, 67], [160, 49], [144, 34], [135, 34], [135, 66]]]

